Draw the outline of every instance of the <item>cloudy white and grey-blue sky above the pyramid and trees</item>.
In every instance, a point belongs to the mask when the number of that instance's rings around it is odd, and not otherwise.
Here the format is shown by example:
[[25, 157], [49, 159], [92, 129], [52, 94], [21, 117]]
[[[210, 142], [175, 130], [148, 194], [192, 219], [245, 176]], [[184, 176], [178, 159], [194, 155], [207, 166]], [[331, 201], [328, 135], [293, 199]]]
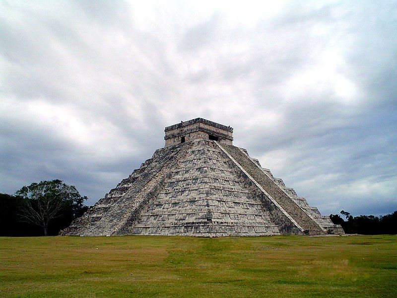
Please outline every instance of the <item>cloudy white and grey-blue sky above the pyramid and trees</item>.
[[0, 0], [0, 192], [94, 204], [202, 117], [324, 215], [397, 210], [397, 1]]

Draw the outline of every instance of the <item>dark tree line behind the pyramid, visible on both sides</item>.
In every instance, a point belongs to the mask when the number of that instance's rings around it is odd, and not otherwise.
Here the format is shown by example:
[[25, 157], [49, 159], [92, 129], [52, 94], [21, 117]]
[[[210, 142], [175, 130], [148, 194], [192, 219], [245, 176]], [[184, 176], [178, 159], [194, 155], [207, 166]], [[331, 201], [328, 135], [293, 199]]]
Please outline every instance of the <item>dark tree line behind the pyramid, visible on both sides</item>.
[[[87, 211], [85, 200], [74, 186], [58, 179], [32, 183], [15, 195], [0, 193], [0, 236], [58, 235]], [[340, 214], [346, 220], [336, 214], [330, 219], [347, 234], [397, 234], [397, 211], [381, 217]]]

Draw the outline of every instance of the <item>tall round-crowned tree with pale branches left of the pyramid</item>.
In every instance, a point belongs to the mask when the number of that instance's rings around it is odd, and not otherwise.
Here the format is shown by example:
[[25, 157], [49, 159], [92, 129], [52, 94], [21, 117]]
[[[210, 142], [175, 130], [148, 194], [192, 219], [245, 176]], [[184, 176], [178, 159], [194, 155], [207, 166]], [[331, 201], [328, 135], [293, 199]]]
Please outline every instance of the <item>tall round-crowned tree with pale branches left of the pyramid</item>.
[[20, 217], [23, 221], [43, 228], [48, 235], [49, 224], [54, 219], [71, 213], [72, 218], [81, 216], [84, 208], [82, 197], [74, 186], [61, 180], [41, 181], [24, 186], [16, 192], [22, 199]]

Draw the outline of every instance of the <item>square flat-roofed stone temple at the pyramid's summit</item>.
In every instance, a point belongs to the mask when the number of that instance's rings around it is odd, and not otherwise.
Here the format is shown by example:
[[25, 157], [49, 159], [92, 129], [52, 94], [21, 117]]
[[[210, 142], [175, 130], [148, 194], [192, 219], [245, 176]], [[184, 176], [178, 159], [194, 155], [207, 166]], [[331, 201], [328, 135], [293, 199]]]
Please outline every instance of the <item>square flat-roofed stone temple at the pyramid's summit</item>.
[[203, 118], [181, 121], [167, 126], [165, 132], [165, 147], [193, 140], [206, 139], [221, 144], [233, 145], [233, 128]]

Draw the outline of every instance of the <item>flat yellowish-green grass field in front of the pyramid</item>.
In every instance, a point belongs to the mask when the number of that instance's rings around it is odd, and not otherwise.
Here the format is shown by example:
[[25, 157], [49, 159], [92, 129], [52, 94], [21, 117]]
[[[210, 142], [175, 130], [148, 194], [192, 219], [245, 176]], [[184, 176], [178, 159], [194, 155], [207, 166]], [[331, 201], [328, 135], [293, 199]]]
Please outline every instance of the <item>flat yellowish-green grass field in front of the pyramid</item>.
[[0, 237], [0, 297], [397, 297], [397, 236]]

